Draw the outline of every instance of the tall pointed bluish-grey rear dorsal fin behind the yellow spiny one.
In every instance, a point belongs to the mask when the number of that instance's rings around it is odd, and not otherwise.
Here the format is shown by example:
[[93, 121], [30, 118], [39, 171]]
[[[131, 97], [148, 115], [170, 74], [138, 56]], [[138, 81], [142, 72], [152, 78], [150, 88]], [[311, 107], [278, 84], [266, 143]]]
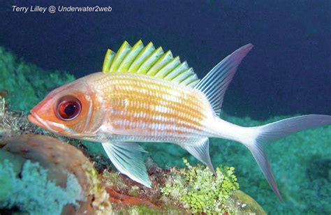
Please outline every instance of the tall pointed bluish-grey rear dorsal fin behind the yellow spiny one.
[[226, 89], [237, 71], [237, 67], [251, 50], [253, 45], [250, 43], [235, 50], [228, 55], [219, 64], [217, 64], [211, 71], [196, 84], [196, 89], [202, 91], [207, 96], [209, 103], [216, 114], [221, 112], [224, 94]]

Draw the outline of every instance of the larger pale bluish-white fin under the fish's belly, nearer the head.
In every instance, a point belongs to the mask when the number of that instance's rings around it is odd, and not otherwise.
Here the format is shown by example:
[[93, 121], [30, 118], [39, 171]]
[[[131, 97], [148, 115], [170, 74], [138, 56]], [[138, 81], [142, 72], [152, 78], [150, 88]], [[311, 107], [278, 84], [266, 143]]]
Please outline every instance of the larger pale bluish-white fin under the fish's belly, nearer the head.
[[117, 170], [134, 181], [151, 188], [141, 152], [146, 152], [134, 142], [103, 142], [103, 149]]

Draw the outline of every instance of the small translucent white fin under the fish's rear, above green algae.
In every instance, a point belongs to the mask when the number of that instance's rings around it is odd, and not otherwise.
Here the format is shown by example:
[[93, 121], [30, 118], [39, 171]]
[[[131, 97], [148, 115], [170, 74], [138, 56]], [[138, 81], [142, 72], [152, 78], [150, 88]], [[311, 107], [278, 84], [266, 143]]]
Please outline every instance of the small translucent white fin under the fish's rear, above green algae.
[[201, 140], [188, 140], [186, 143], [179, 144], [183, 149], [189, 151], [191, 155], [196, 157], [201, 163], [208, 166], [210, 170], [216, 175], [212, 160], [209, 156], [209, 138], [202, 138]]

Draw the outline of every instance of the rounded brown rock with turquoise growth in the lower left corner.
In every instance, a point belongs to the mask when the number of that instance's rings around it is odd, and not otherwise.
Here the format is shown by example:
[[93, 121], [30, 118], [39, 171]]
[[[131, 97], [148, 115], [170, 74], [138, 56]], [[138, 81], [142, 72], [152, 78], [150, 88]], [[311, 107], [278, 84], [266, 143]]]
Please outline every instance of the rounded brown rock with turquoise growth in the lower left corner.
[[0, 142], [0, 208], [31, 214], [106, 214], [108, 193], [75, 147], [45, 135]]

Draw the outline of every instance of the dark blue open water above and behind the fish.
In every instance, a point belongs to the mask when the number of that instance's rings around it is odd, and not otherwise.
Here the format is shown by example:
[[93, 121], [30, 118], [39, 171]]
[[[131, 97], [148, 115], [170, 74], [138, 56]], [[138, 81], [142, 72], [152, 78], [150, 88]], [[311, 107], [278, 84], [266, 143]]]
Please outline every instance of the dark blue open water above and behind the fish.
[[[57, 2], [57, 3], [54, 3]], [[17, 6], [111, 6], [109, 13], [17, 13]], [[203, 77], [241, 45], [255, 47], [223, 110], [267, 119], [331, 114], [331, 1], [13, 1], [1, 6], [1, 45], [77, 77], [101, 70], [124, 40], [162, 45]]]

